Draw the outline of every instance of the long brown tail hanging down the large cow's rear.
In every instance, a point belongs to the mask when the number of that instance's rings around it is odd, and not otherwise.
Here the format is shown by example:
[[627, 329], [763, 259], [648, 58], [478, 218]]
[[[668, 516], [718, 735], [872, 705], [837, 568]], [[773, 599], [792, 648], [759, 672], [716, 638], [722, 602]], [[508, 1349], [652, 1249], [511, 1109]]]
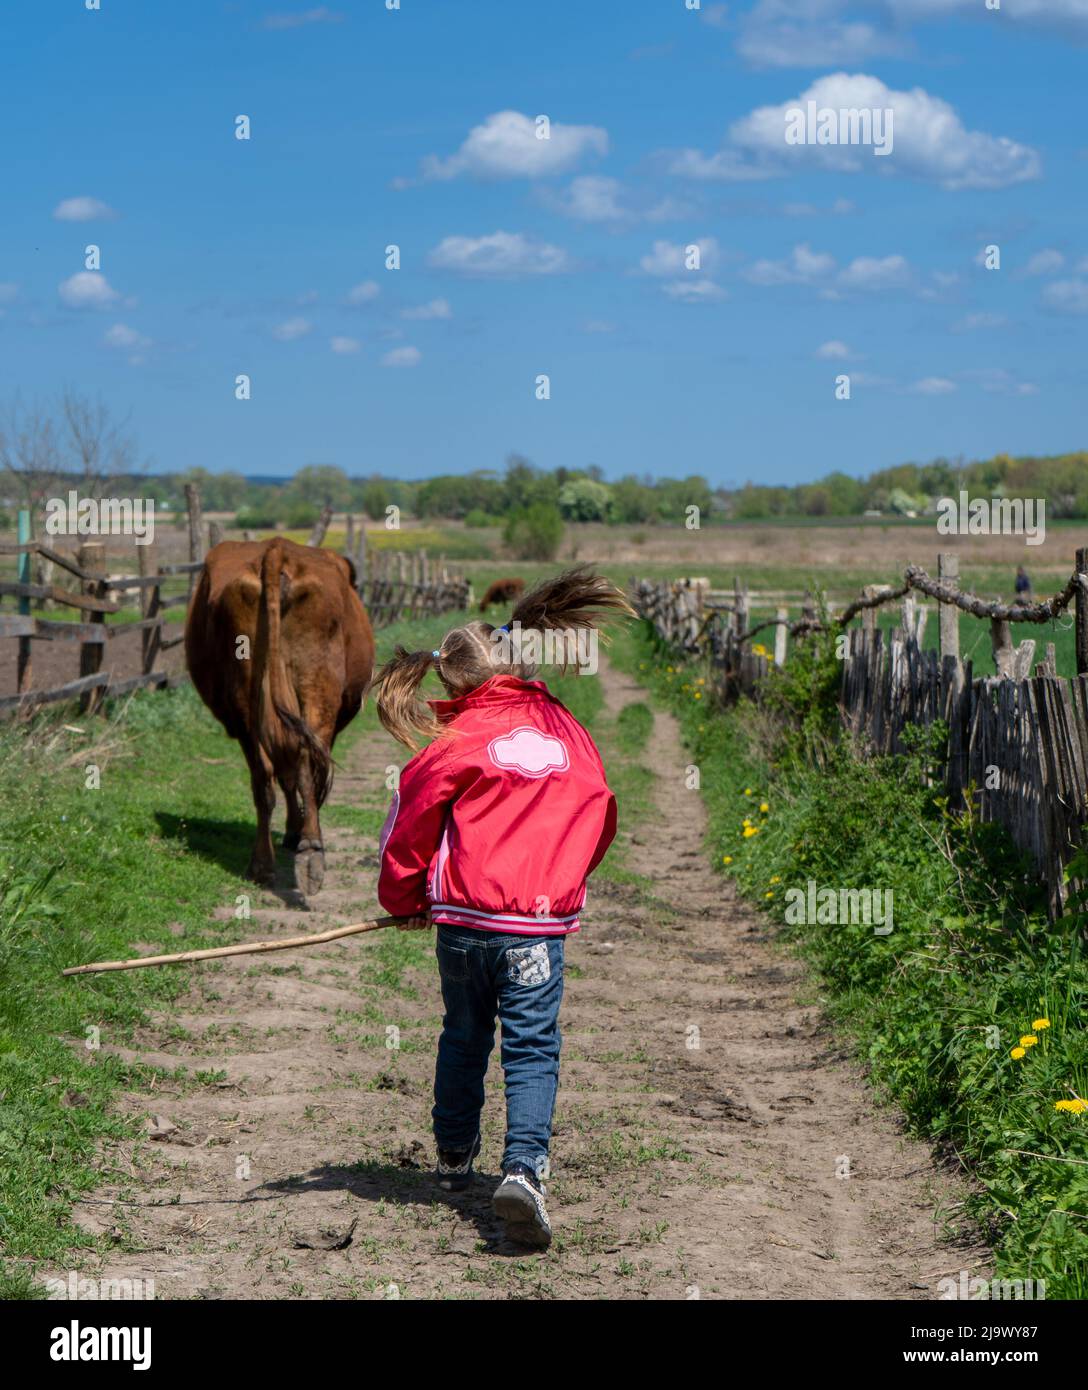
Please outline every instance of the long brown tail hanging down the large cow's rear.
[[[328, 748], [303, 719], [299, 696], [288, 677], [281, 646], [282, 606], [290, 577], [283, 573], [283, 546], [272, 541], [261, 563], [261, 599], [257, 621], [257, 652], [264, 666], [257, 676], [257, 737], [272, 766], [297, 762], [303, 752], [310, 755], [310, 770], [317, 805], [325, 802], [332, 790], [332, 758]], [[257, 657], [260, 660], [260, 655]]]

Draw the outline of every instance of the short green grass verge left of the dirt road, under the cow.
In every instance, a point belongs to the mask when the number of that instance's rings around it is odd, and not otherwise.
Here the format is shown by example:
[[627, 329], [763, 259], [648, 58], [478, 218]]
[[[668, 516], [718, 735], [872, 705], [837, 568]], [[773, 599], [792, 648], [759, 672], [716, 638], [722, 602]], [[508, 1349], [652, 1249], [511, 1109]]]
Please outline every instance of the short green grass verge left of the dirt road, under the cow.
[[[453, 621], [390, 627], [379, 656], [397, 641], [429, 648]], [[374, 721], [368, 708], [338, 756]], [[71, 1198], [94, 1187], [100, 1143], [133, 1134], [113, 1111], [117, 1093], [150, 1080], [104, 1045], [189, 986], [174, 970], [60, 970], [138, 942], [178, 951], [252, 935], [245, 919], [213, 913], [252, 892], [254, 816], [238, 746], [192, 688], [146, 692], [100, 719], [53, 710], [8, 726], [0, 806], [0, 1295], [29, 1297], [35, 1261], [96, 1247], [72, 1225]], [[397, 949], [384, 944], [390, 972]]]

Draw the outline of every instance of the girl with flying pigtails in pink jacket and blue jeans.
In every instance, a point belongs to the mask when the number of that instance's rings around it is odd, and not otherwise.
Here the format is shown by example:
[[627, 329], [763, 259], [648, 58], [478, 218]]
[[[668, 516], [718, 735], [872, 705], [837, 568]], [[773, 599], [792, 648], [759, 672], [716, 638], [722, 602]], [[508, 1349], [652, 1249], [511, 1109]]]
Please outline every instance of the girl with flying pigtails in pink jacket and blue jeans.
[[[445, 1017], [438, 1041], [438, 1180], [471, 1182], [484, 1076], [502, 1024], [503, 1180], [493, 1207], [518, 1244], [545, 1248], [543, 1177], [559, 1084], [563, 938], [578, 930], [585, 881], [616, 834], [616, 798], [592, 738], [524, 660], [547, 630], [595, 635], [600, 616], [634, 610], [585, 569], [545, 580], [510, 623], [472, 621], [434, 652], [397, 648], [377, 681], [378, 716], [415, 751], [382, 830], [378, 898], [395, 916], [438, 926]], [[554, 638], [553, 638], [554, 639]], [[449, 699], [424, 705], [436, 671]]]

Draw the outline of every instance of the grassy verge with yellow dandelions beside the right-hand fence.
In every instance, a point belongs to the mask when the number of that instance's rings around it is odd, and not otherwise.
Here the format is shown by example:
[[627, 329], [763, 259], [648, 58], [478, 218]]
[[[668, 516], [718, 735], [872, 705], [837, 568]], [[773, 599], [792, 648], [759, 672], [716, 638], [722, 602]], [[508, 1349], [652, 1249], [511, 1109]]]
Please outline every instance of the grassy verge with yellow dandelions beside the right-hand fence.
[[[711, 708], [706, 671], [646, 628], [614, 659], [681, 723], [714, 862], [814, 965], [878, 1094], [971, 1176], [996, 1276], [1085, 1298], [1085, 913], [1049, 923], [1005, 834], [949, 813], [927, 785], [932, 741], [906, 758], [853, 759], [834, 737], [838, 667], [818, 644], [809, 652], [760, 709], [730, 710]], [[827, 897], [803, 920], [810, 884], [835, 891], [839, 919], [842, 890], [891, 892], [892, 931], [831, 924]]]

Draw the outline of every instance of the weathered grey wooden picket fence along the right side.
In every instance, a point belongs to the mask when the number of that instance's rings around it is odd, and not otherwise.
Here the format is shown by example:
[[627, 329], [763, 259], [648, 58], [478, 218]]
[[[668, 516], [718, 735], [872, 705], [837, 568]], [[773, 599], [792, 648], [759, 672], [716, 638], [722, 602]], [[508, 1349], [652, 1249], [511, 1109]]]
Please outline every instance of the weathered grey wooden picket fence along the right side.
[[[1046, 885], [1049, 910], [1060, 915], [1067, 897], [1064, 867], [1088, 823], [1088, 552], [1078, 550], [1069, 584], [1044, 603], [1005, 605], [962, 594], [955, 556], [942, 556], [938, 578], [910, 566], [902, 587], [870, 585], [838, 616], [818, 612], [806, 596], [799, 621], [778, 609], [749, 626], [749, 602], [738, 581], [716, 594], [704, 580], [632, 580], [635, 606], [670, 646], [706, 659], [725, 701], [760, 698], [773, 663], [786, 659], [786, 634], [817, 628], [843, 641], [841, 714], [863, 756], [902, 752], [907, 726], [948, 726], [942, 776], [953, 806], [971, 798], [984, 821], [1003, 826]], [[937, 599], [939, 645], [923, 648], [928, 609]], [[877, 609], [902, 600], [899, 626], [877, 627]], [[1075, 607], [1077, 669], [1057, 676], [1053, 645], [1031, 664], [1035, 642], [1012, 642], [1012, 624], [1046, 623]], [[959, 655], [959, 612], [989, 619], [992, 677], [974, 677]], [[860, 626], [850, 626], [860, 617]], [[774, 631], [774, 649], [756, 638]]]

